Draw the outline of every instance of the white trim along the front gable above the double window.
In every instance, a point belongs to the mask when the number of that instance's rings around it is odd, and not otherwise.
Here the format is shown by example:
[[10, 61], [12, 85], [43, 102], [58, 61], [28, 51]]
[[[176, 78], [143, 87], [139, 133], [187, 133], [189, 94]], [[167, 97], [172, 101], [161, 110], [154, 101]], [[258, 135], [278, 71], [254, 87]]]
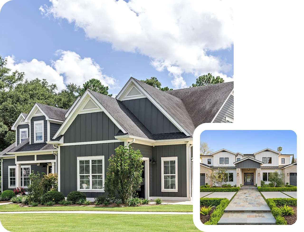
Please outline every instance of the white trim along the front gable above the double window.
[[[80, 100], [77, 102], [77, 104], [75, 105], [75, 107], [72, 109], [71, 113], [67, 116], [67, 118], [64, 120], [64, 123], [60, 126], [60, 128], [58, 129], [58, 131], [56, 132], [56, 134], [54, 135], [53, 139], [57, 138], [59, 135], [63, 135], [65, 133], [65, 131], [67, 131], [67, 128], [71, 125], [71, 123], [74, 121], [74, 119], [76, 118], [76, 116], [78, 114], [80, 114], [81, 112], [80, 109], [82, 109], [83, 105], [85, 105], [89, 100], [86, 99], [85, 102], [83, 104], [81, 104], [81, 102], [85, 99], [85, 98], [91, 98], [92, 101], [94, 101], [94, 103], [101, 109], [99, 111], [103, 111], [105, 112], [105, 114], [111, 119], [111, 121], [120, 129], [123, 131], [123, 133], [127, 133], [126, 130], [116, 121], [115, 118], [113, 118], [113, 116], [105, 109], [105, 107], [103, 107], [102, 104], [100, 104], [100, 102], [93, 96], [93, 94], [90, 93], [89, 90], [85, 90], [85, 93], [82, 95], [82, 97], [80, 98]], [[78, 111], [77, 111], [78, 109]], [[77, 112], [76, 112], [77, 111]], [[74, 113], [76, 113], [74, 115]], [[85, 113], [88, 113], [88, 111], [86, 111]], [[71, 119], [71, 117], [74, 115], [73, 120], [67, 124], [67, 122]]]

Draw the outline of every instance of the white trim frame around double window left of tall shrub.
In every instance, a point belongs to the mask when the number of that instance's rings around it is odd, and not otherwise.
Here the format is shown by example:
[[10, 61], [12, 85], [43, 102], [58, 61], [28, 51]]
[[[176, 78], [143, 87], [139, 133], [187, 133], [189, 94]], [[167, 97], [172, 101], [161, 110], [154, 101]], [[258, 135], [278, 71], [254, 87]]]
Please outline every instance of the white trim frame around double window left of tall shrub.
[[[102, 159], [102, 189], [80, 189], [80, 178], [79, 178], [79, 160], [90, 160], [90, 188], [92, 188], [92, 159]], [[95, 174], [93, 174], [95, 175]], [[105, 192], [105, 156], [81, 156], [77, 157], [77, 191], [79, 192]]]

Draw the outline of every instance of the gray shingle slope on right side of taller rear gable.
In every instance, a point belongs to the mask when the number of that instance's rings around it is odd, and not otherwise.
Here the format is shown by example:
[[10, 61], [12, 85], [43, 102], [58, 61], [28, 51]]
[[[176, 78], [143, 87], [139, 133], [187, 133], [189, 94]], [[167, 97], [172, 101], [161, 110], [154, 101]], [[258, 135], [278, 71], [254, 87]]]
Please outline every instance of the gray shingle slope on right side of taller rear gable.
[[[135, 78], [133, 79], [136, 80]], [[183, 127], [190, 135], [193, 135], [195, 127], [181, 99], [173, 96], [173, 94], [154, 88], [140, 80], [136, 80], [136, 82], [140, 84], [140, 86], [146, 90], [148, 94], [150, 94], [150, 96], [153, 97], [154, 100], [157, 101], [157, 103], [160, 104], [161, 107], [163, 107], [164, 110], [179, 123], [179, 125], [181, 125], [181, 127]], [[185, 104], [188, 104], [188, 102]]]

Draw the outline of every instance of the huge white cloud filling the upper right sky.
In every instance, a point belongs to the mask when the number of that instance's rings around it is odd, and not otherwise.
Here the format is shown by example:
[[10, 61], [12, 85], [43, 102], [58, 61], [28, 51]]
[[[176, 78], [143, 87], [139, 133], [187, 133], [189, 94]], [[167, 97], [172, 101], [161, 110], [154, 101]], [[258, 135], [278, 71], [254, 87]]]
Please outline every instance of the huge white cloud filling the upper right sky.
[[[50, 0], [43, 15], [67, 19], [88, 38], [112, 44], [113, 49], [151, 58], [158, 71], [173, 75], [174, 87], [186, 87], [182, 73], [195, 76], [221, 73], [230, 64], [206, 51], [233, 44], [234, 8], [220, 0]], [[231, 79], [231, 78], [230, 78]], [[233, 78], [232, 78], [233, 79]]]

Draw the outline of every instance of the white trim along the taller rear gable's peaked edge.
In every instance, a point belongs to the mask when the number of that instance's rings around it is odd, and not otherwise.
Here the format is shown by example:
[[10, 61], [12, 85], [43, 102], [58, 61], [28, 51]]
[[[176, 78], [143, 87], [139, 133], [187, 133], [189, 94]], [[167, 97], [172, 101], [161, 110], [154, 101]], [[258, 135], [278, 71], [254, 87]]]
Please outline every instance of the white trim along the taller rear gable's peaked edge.
[[126, 88], [130, 85], [131, 82], [133, 82], [133, 84], [136, 86], [136, 88], [138, 90], [140, 90], [140, 92], [142, 92], [145, 96], [147, 96], [147, 98], [157, 107], [157, 109], [159, 109], [174, 124], [174, 126], [176, 126], [181, 132], [184, 132], [185, 135], [191, 136], [177, 121], [175, 121], [174, 118], [172, 118], [172, 116], [170, 114], [168, 114], [167, 111], [165, 111], [165, 109], [163, 107], [161, 107], [160, 104], [158, 104], [157, 101], [154, 100], [153, 97], [151, 97], [151, 95], [146, 90], [143, 89], [143, 87], [140, 86], [140, 84], [137, 83], [136, 80], [133, 79], [133, 77], [130, 78], [130, 80], [127, 82], [127, 84], [119, 92], [119, 94], [116, 97], [117, 100], [122, 101], [121, 96], [122, 96], [123, 92], [126, 90]]

